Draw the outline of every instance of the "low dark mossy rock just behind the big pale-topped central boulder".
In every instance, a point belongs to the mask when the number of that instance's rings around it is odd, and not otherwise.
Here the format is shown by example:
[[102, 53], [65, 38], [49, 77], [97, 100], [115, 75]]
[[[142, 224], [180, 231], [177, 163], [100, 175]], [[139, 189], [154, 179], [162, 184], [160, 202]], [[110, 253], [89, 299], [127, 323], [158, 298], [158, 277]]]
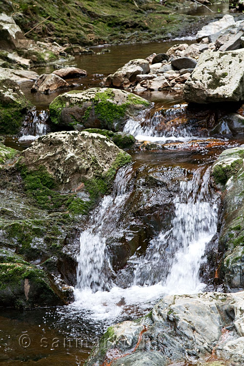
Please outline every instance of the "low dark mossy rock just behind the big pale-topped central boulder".
[[87, 128], [87, 132], [98, 133], [100, 135], [106, 136], [109, 140], [114, 142], [121, 149], [128, 149], [134, 145], [136, 139], [130, 133], [126, 132], [113, 132], [108, 130], [101, 130], [99, 128]]

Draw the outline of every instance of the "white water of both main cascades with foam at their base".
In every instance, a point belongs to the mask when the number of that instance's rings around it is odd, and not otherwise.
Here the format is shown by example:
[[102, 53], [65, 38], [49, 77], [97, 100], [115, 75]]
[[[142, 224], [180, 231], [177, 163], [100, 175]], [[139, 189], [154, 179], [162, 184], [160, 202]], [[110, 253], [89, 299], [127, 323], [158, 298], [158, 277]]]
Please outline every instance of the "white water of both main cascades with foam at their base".
[[175, 214], [171, 228], [153, 238], [134, 264], [133, 285], [120, 288], [113, 283], [113, 270], [106, 253], [106, 238], [116, 234], [132, 167], [121, 169], [113, 193], [103, 198], [93, 212], [89, 227], [81, 233], [77, 258], [76, 301], [71, 307], [83, 309], [89, 319], [118, 319], [133, 308], [150, 307], [164, 294], [195, 293], [203, 290], [199, 270], [206, 244], [217, 229], [218, 206], [209, 190], [209, 169], [201, 177], [196, 170], [192, 179], [180, 182], [174, 199]]

